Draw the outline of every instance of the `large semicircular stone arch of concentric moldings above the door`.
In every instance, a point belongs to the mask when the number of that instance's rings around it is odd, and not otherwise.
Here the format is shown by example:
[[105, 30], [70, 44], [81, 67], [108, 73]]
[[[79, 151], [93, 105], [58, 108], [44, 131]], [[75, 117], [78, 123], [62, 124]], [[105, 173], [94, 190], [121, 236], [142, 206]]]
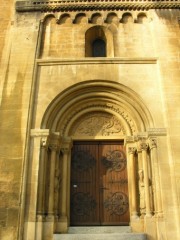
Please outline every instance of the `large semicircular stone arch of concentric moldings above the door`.
[[[77, 83], [61, 92], [49, 104], [41, 128], [72, 136], [90, 122], [96, 126], [98, 123], [106, 135], [136, 135], [154, 125], [148, 108], [132, 89], [117, 82], [93, 80]], [[109, 126], [107, 131], [104, 131], [105, 126]]]

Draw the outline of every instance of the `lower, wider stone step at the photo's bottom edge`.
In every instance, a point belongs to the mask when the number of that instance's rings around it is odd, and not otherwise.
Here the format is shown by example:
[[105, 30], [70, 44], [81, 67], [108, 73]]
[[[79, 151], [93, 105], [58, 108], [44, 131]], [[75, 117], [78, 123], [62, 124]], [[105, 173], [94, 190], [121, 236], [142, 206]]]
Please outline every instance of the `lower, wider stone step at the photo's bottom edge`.
[[54, 240], [147, 240], [141, 233], [54, 234]]

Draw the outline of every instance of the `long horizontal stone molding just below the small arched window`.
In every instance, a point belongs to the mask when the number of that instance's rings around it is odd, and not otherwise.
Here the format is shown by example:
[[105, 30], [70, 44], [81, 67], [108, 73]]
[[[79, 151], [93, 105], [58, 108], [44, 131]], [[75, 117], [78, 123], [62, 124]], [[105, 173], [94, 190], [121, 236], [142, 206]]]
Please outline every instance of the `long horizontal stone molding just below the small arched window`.
[[60, 58], [52, 58], [52, 59], [37, 59], [36, 63], [38, 66], [49, 66], [49, 65], [82, 65], [82, 64], [156, 64], [156, 57], [148, 57], [148, 58], [75, 58], [75, 59], [60, 59]]

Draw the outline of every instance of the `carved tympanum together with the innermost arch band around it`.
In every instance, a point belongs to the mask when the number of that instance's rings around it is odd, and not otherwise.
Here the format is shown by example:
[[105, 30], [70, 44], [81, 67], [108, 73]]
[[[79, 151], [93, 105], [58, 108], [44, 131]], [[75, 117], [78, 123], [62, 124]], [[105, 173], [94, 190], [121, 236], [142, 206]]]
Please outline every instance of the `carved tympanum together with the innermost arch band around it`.
[[[81, 115], [83, 111], [88, 112], [85, 115]], [[80, 117], [76, 119], [70, 130], [67, 130], [74, 116], [78, 114]], [[119, 117], [116, 117], [118, 115]], [[61, 124], [60, 132], [70, 136], [119, 136], [136, 133], [137, 126], [130, 114], [120, 106], [116, 104], [91, 103], [69, 112], [64, 125]]]

